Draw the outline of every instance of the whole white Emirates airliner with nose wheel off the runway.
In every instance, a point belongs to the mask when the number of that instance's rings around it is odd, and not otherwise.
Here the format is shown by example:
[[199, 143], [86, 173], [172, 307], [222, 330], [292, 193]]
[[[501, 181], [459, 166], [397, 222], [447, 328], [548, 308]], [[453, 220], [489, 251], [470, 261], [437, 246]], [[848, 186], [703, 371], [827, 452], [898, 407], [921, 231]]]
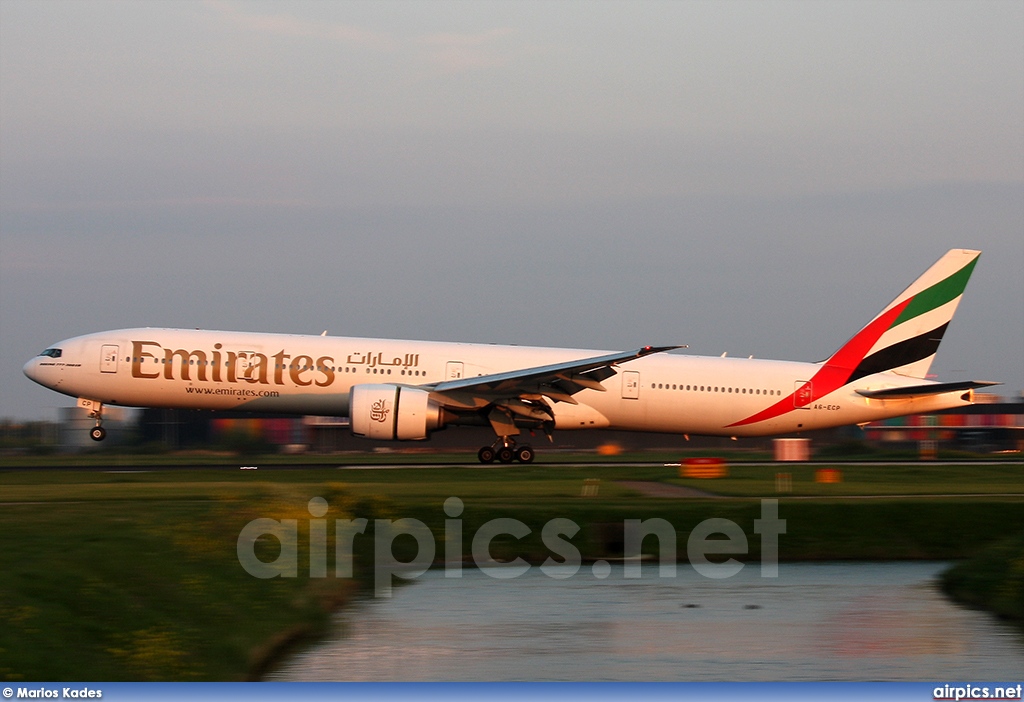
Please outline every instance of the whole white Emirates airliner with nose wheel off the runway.
[[947, 252], [817, 363], [580, 349], [130, 328], [68, 339], [25, 365], [78, 399], [101, 441], [108, 405], [350, 418], [369, 439], [489, 426], [483, 464], [530, 463], [523, 430], [771, 436], [972, 404], [985, 381], [927, 375], [981, 252]]

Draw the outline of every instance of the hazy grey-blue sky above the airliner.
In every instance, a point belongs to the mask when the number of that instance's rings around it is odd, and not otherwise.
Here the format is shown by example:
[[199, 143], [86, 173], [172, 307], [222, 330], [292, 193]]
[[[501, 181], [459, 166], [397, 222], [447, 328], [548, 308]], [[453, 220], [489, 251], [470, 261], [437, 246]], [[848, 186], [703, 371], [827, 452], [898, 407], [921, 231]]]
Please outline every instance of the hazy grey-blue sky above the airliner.
[[1024, 3], [0, 1], [0, 418], [182, 326], [827, 357], [982, 250], [1024, 391]]

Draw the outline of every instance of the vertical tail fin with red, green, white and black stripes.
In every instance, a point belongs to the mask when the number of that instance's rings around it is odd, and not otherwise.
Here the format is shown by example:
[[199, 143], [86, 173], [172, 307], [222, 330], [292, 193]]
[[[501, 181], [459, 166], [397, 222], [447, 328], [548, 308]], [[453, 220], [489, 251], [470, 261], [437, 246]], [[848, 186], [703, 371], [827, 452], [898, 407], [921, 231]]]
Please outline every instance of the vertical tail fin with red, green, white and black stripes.
[[[891, 371], [925, 378], [980, 251], [953, 249], [825, 361], [847, 383]], [[845, 374], [843, 374], [845, 375]]]

